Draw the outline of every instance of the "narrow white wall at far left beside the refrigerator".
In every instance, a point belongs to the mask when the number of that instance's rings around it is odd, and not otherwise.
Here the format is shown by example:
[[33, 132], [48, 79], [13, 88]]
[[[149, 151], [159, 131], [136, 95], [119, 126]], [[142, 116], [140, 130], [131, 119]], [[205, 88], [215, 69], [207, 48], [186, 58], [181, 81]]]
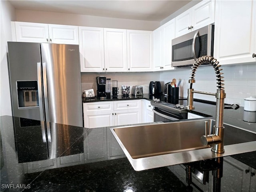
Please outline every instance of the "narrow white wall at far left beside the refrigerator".
[[12, 40], [10, 21], [16, 19], [15, 9], [8, 1], [0, 1], [1, 6], [1, 53], [0, 53], [0, 116], [12, 115], [7, 67], [7, 41]]

